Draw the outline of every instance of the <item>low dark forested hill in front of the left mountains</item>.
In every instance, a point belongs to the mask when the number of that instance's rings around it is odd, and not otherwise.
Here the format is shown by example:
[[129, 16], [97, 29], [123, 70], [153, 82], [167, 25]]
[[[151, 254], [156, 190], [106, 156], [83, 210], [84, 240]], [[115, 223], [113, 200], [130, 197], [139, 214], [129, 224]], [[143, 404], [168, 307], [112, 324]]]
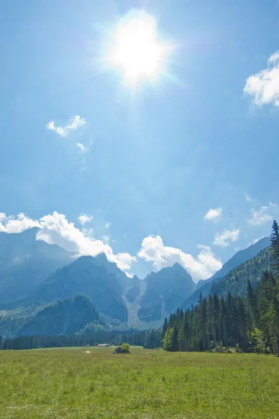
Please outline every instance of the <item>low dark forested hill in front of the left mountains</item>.
[[88, 298], [78, 295], [59, 300], [30, 316], [17, 331], [22, 335], [73, 335], [88, 323], [99, 320], [99, 314]]

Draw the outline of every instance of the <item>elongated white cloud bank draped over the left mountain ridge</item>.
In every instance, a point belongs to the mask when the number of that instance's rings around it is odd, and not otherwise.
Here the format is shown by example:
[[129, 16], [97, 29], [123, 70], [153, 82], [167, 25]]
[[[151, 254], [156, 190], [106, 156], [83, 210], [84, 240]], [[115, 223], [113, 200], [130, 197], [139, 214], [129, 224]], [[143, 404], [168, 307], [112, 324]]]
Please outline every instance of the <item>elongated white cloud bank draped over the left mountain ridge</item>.
[[1, 213], [0, 231], [6, 233], [21, 233], [27, 228], [38, 227], [37, 240], [44, 240], [49, 244], [57, 244], [66, 251], [74, 251], [78, 255], [96, 256], [106, 253], [110, 262], [114, 262], [124, 272], [129, 271], [131, 263], [136, 261], [129, 253], [113, 253], [113, 249], [101, 240], [92, 237], [92, 230], [83, 230], [66, 219], [64, 214], [53, 212], [41, 219], [33, 220], [20, 213], [15, 216], [6, 216]]

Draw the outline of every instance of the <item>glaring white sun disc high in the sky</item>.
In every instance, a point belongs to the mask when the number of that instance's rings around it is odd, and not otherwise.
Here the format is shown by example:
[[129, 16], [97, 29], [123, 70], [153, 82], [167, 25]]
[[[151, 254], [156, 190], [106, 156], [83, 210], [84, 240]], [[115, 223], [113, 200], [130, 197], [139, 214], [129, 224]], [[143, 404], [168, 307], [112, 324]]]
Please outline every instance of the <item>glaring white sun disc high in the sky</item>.
[[113, 34], [109, 61], [120, 68], [124, 80], [135, 84], [146, 78], [155, 80], [162, 70], [165, 47], [159, 43], [155, 19], [145, 12], [127, 15]]

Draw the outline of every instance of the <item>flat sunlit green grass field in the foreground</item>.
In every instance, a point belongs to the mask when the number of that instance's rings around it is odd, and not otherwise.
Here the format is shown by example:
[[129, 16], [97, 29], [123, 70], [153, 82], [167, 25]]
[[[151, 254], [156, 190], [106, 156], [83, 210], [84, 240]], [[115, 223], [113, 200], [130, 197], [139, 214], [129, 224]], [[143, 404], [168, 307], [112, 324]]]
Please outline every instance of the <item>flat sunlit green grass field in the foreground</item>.
[[279, 418], [273, 356], [90, 351], [0, 351], [0, 418]]

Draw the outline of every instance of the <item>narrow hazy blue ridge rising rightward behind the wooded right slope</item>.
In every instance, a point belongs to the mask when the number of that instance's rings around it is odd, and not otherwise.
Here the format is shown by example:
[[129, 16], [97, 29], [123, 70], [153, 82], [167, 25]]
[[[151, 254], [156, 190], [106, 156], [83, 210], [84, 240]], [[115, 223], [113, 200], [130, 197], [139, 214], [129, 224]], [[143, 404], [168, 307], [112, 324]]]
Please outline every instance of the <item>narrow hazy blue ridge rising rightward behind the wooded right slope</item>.
[[266, 247], [269, 247], [269, 245], [270, 245], [269, 237], [263, 237], [261, 240], [259, 240], [255, 244], [252, 244], [247, 249], [238, 251], [231, 259], [229, 259], [226, 263], [224, 263], [222, 268], [218, 272], [216, 272], [213, 275], [213, 277], [206, 279], [206, 281], [199, 281], [196, 291], [194, 291], [192, 295], [190, 295], [187, 299], [185, 299], [185, 301], [182, 304], [182, 308], [187, 309], [191, 307], [192, 304], [196, 305], [199, 301], [200, 292], [202, 293], [203, 297], [206, 297], [208, 293], [210, 292], [210, 288], [213, 282], [217, 283], [235, 267], [237, 267], [238, 265], [241, 265], [241, 263], [246, 262], [247, 260], [253, 258], [254, 256], [257, 256], [257, 253], [259, 253]]

